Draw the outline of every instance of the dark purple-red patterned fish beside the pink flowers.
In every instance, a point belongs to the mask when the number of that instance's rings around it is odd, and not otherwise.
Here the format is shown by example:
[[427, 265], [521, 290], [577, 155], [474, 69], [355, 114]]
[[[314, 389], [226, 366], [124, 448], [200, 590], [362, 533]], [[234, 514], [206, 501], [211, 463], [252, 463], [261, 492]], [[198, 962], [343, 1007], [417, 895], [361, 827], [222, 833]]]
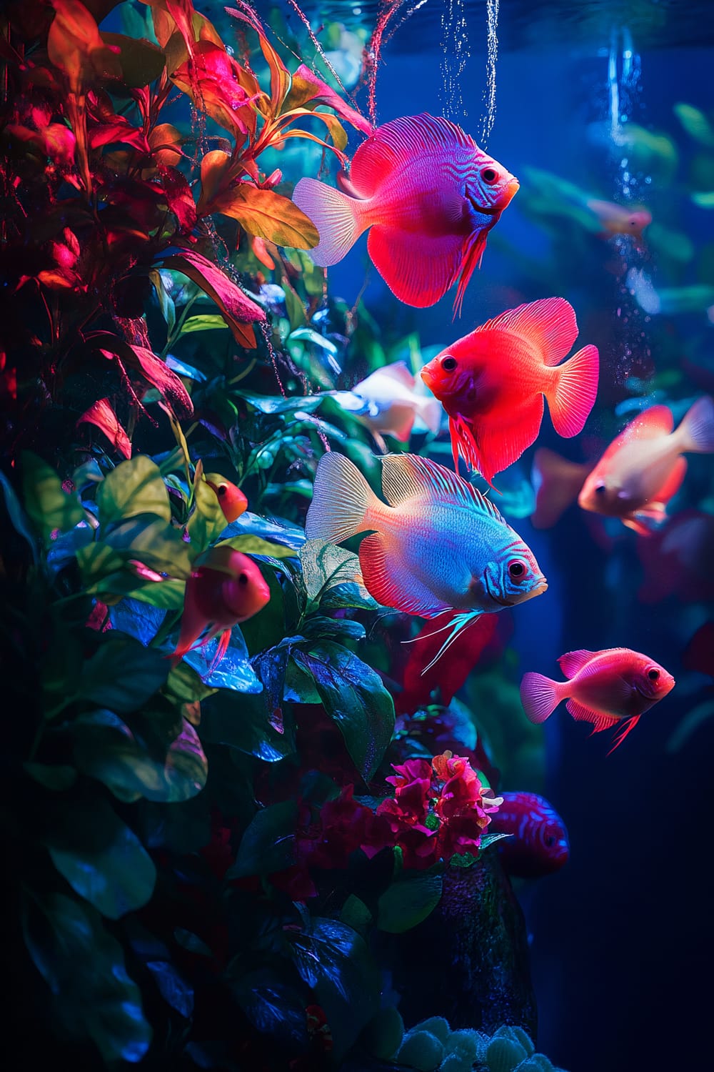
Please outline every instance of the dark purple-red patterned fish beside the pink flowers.
[[503, 803], [491, 816], [489, 832], [511, 834], [498, 843], [501, 863], [517, 878], [542, 878], [567, 863], [565, 824], [537, 793], [500, 793]]

